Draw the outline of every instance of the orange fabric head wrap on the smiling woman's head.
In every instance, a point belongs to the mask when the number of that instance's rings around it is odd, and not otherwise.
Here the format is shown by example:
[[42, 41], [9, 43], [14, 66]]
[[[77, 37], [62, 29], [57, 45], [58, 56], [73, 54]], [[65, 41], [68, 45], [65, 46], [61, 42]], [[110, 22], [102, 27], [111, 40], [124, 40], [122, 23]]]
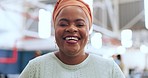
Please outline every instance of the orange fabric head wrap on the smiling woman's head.
[[66, 6], [79, 6], [80, 8], [82, 8], [89, 19], [90, 27], [92, 26], [92, 13], [90, 7], [82, 0], [58, 0], [53, 11], [53, 23], [55, 23], [56, 17], [58, 16], [59, 12]]

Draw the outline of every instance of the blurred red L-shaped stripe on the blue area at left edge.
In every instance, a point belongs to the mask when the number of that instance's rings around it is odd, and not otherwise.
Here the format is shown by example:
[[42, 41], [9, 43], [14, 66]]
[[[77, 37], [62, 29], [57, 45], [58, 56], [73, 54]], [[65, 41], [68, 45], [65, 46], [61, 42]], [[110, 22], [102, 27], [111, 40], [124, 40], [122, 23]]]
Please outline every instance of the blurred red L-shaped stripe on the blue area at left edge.
[[13, 50], [12, 50], [12, 56], [11, 57], [3, 57], [3, 58], [0, 58], [0, 63], [16, 63], [17, 62], [17, 58], [18, 58], [18, 52], [17, 52], [17, 47], [16, 45], [13, 47]]

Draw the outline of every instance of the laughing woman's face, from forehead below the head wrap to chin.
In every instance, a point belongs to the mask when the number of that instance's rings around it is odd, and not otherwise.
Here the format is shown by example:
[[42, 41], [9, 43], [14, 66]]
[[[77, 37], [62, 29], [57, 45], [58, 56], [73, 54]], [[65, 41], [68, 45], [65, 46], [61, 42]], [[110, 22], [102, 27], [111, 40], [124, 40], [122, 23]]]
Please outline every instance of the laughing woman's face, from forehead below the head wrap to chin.
[[62, 9], [55, 21], [55, 39], [62, 54], [84, 54], [89, 36], [89, 21], [84, 11], [77, 6]]

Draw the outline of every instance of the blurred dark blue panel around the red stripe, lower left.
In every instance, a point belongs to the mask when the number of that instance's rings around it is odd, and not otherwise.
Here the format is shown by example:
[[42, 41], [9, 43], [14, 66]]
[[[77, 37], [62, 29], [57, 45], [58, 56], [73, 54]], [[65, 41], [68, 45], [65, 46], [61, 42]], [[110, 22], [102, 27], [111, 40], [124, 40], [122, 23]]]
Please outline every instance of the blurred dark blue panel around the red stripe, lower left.
[[[0, 63], [0, 73], [2, 74], [19, 74], [27, 65], [29, 60], [35, 57], [35, 51], [19, 51], [18, 59], [16, 63], [3, 64]], [[12, 50], [0, 50], [0, 58], [1, 57], [11, 57]]]

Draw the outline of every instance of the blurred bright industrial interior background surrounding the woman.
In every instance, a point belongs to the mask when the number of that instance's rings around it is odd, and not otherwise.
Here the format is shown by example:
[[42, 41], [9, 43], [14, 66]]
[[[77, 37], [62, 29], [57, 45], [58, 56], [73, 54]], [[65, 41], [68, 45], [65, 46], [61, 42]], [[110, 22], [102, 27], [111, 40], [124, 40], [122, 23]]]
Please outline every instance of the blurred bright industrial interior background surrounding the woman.
[[[126, 78], [148, 78], [148, 0], [85, 0], [93, 12], [86, 52], [111, 58]], [[0, 78], [17, 78], [29, 60], [58, 49], [56, 0], [0, 0]]]

